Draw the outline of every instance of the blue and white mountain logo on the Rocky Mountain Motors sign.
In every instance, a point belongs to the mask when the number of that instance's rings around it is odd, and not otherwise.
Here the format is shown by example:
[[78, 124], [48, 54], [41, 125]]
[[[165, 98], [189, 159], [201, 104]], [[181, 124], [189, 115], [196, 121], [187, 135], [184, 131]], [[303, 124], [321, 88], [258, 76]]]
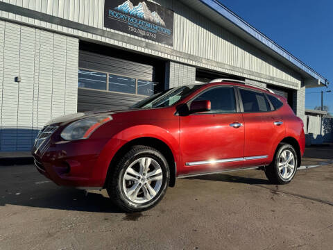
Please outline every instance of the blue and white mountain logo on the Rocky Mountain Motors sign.
[[133, 6], [133, 3], [130, 0], [126, 0], [114, 9], [134, 17], [139, 17], [148, 22], [152, 22], [160, 26], [165, 26], [165, 22], [160, 17], [160, 15], [158, 15], [155, 11], [151, 12], [146, 2], [144, 1], [140, 2], [137, 6]]

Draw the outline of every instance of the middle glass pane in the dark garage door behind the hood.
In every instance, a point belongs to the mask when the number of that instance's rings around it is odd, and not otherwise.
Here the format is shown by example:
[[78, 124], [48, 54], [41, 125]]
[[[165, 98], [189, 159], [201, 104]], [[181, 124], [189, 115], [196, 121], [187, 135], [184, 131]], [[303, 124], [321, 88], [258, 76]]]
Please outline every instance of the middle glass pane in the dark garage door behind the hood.
[[123, 92], [135, 94], [136, 79], [126, 76], [115, 76], [109, 74], [109, 90], [114, 92]]

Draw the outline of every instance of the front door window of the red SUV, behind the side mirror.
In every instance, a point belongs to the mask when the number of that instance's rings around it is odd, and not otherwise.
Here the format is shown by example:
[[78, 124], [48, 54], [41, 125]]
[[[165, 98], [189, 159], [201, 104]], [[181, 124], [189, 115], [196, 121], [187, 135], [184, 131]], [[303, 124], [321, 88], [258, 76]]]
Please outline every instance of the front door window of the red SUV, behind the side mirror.
[[234, 88], [212, 88], [194, 99], [194, 101], [204, 100], [208, 100], [212, 104], [210, 113], [236, 113]]

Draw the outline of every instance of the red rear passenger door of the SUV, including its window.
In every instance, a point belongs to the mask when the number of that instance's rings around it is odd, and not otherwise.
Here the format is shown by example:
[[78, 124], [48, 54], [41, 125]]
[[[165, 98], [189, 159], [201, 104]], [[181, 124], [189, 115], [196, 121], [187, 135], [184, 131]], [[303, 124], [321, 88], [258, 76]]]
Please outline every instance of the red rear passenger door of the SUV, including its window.
[[273, 147], [285, 131], [284, 124], [272, 111], [266, 94], [247, 88], [238, 90], [245, 128], [244, 167], [267, 165], [273, 160]]

